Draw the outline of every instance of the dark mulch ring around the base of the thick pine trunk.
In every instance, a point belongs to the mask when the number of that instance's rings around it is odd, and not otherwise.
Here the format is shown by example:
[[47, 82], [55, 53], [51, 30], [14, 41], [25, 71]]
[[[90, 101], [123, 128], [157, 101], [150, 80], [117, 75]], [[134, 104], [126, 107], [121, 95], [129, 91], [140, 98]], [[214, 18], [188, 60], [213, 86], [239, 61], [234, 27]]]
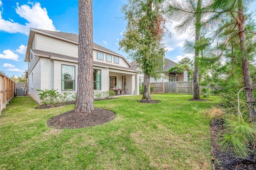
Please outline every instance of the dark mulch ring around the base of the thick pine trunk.
[[95, 107], [94, 112], [91, 114], [76, 113], [74, 110], [71, 110], [52, 117], [46, 123], [49, 127], [57, 129], [76, 129], [101, 125], [114, 118], [115, 113], [113, 111]]

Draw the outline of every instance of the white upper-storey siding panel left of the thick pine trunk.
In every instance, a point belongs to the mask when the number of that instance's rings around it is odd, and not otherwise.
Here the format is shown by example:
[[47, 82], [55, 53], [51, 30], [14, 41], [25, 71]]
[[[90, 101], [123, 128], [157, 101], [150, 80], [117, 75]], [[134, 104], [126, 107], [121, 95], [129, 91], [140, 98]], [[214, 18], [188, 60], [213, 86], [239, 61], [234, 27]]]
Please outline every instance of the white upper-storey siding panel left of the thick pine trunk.
[[78, 57], [78, 45], [37, 34], [36, 49]]

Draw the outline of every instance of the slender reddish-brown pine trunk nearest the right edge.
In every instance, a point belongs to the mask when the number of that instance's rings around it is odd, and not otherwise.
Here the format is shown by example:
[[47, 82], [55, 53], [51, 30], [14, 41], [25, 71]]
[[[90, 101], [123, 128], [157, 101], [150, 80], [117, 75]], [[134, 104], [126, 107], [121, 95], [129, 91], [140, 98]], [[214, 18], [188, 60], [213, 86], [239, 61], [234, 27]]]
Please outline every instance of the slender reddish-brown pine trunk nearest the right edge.
[[[246, 91], [246, 102], [248, 104], [248, 113], [250, 119], [253, 119], [255, 116], [255, 99], [253, 93], [252, 80], [250, 76], [250, 68], [247, 54], [247, 46], [245, 41], [244, 33], [244, 9], [242, 0], [238, 0], [238, 29], [239, 29], [239, 38], [240, 38], [240, 49], [242, 51], [242, 72], [244, 76], [244, 87]], [[256, 121], [254, 119], [254, 121]]]

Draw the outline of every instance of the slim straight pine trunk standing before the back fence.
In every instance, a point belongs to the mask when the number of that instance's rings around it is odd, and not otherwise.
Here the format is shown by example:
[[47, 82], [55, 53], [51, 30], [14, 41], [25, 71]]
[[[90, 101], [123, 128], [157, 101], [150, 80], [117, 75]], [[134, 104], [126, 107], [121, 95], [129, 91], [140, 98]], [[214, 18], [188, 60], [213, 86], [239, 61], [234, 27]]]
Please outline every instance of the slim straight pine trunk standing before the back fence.
[[[202, 6], [202, 0], [198, 0], [197, 7], [196, 7], [196, 35], [195, 35], [195, 44], [196, 41], [199, 41], [200, 39], [200, 29], [201, 29], [201, 6]], [[194, 74], [193, 74], [193, 84], [194, 84], [194, 93], [193, 93], [193, 99], [200, 99], [200, 90], [199, 90], [199, 66], [198, 61], [196, 60], [196, 57], [199, 57], [199, 49], [198, 47], [195, 48], [195, 59], [194, 59]]]

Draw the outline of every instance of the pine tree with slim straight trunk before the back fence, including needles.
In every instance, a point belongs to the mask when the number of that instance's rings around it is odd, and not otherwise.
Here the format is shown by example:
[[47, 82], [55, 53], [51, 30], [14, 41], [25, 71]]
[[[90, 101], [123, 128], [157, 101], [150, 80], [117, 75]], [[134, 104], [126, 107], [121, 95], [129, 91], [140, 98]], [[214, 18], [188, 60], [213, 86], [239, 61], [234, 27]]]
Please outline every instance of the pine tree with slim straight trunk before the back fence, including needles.
[[[204, 1], [204, 6], [207, 6], [208, 1]], [[178, 34], [185, 33], [190, 27], [194, 30], [192, 35], [195, 36], [194, 54], [195, 58], [200, 57], [200, 35], [202, 32], [202, 20], [205, 18], [207, 13], [204, 13], [202, 8], [202, 0], [172, 0], [167, 2], [166, 14], [172, 21], [181, 22], [176, 25], [174, 29]], [[199, 64], [198, 60], [194, 60], [194, 93], [193, 99], [200, 99], [199, 91]]]

